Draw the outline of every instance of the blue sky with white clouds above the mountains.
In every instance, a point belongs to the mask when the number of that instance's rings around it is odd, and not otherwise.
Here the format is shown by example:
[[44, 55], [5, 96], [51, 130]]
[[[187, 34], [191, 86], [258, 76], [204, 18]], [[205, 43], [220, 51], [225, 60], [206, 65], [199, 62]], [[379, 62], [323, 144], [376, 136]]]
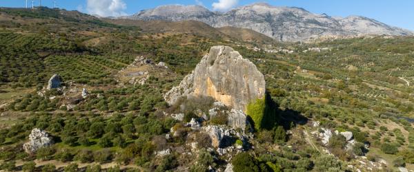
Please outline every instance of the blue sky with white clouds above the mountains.
[[[54, 0], [34, 0], [34, 6], [54, 7]], [[200, 5], [210, 10], [226, 12], [237, 6], [266, 2], [272, 6], [304, 8], [316, 14], [332, 17], [358, 15], [388, 25], [414, 30], [413, 0], [56, 0], [59, 8], [78, 10], [88, 14], [117, 17], [130, 15], [169, 4]], [[31, 6], [31, 0], [28, 0]], [[1, 7], [24, 7], [25, 0], [0, 0]]]

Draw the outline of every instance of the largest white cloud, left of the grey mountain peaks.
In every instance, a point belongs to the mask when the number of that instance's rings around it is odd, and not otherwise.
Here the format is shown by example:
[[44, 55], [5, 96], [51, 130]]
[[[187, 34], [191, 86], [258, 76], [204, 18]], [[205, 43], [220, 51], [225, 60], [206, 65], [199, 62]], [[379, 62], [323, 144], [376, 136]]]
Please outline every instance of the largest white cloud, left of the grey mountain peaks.
[[123, 0], [86, 0], [86, 10], [101, 17], [119, 17], [126, 15], [126, 3]]

